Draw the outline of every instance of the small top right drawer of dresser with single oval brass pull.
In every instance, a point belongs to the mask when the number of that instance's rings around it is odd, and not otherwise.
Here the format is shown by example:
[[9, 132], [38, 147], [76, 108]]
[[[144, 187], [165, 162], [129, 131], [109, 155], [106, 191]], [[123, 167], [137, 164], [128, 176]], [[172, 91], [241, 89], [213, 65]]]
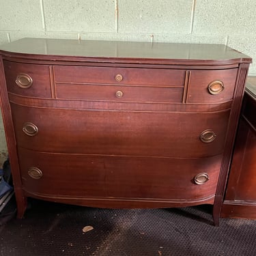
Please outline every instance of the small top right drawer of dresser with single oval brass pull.
[[188, 103], [221, 103], [233, 99], [237, 68], [229, 70], [192, 70]]

